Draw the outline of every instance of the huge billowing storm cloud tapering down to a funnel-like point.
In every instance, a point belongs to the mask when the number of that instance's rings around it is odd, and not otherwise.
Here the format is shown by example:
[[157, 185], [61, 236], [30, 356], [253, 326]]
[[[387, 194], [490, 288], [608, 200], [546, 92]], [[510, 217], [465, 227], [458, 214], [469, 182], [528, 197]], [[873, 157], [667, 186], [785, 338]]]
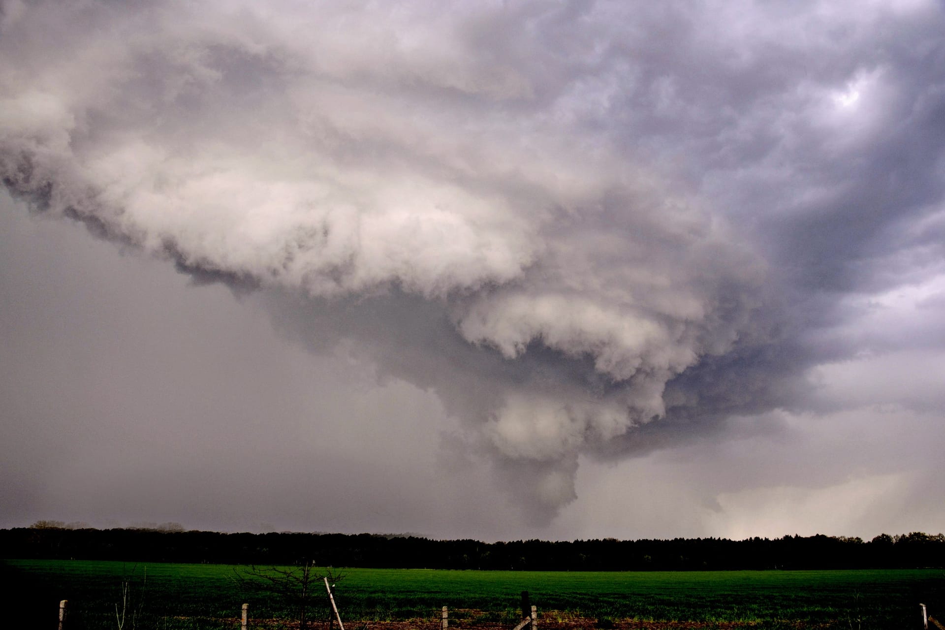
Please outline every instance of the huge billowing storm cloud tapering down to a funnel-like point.
[[143, 7], [5, 5], [8, 189], [435, 392], [536, 519], [945, 271], [932, 3]]

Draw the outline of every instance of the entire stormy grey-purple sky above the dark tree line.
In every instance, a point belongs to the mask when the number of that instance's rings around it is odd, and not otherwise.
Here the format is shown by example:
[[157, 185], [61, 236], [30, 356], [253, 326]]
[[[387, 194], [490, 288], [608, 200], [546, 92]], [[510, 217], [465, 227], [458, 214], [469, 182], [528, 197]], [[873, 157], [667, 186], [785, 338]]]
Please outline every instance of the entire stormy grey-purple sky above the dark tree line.
[[0, 8], [0, 527], [941, 531], [942, 2]]

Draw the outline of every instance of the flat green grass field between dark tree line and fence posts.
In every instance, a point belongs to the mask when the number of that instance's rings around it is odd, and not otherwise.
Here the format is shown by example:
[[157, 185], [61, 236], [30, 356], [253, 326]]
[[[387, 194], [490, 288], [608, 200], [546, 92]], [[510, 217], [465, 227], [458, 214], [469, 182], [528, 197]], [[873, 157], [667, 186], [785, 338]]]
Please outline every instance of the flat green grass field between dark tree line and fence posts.
[[[131, 572], [133, 570], [133, 573]], [[121, 562], [6, 560], [0, 578], [10, 601], [55, 627], [59, 601], [69, 600], [70, 630], [117, 628], [123, 576], [141, 601], [138, 628], [238, 627], [240, 605], [256, 620], [286, 620], [282, 599], [247, 589], [239, 567]], [[146, 583], [143, 578], [146, 573]], [[343, 570], [336, 596], [348, 630], [507, 627], [518, 618], [520, 593], [539, 609], [540, 628], [897, 628], [920, 627], [919, 603], [945, 617], [942, 570], [813, 570], [691, 572], [556, 572]], [[320, 600], [316, 619], [327, 619]], [[258, 621], [257, 623], [261, 623]], [[498, 624], [498, 625], [497, 625]], [[131, 622], [126, 622], [126, 628]], [[251, 626], [252, 627], [252, 626]], [[258, 626], [257, 626], [258, 627]]]

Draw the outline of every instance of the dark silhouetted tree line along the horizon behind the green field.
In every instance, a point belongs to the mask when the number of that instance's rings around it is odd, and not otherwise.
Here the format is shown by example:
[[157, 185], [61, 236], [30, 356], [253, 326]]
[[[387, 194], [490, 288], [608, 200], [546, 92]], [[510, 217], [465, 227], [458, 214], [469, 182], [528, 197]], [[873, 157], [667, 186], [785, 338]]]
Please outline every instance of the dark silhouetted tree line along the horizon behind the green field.
[[94, 529], [41, 521], [0, 530], [0, 557], [469, 570], [894, 569], [945, 566], [945, 535], [434, 540], [376, 534]]

